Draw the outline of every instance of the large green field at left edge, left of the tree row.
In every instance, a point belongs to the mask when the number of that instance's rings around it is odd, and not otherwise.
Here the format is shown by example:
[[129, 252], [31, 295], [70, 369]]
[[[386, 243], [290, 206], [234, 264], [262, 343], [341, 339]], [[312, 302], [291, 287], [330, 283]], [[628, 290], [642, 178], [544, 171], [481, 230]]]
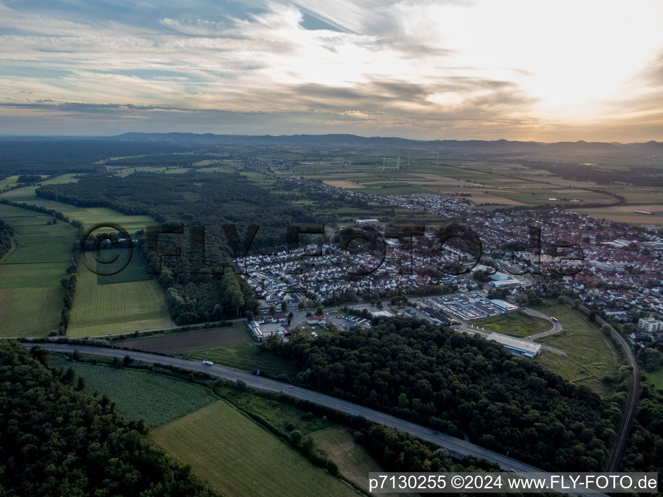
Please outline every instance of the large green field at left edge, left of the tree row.
[[67, 276], [77, 231], [52, 217], [0, 204], [0, 219], [15, 231], [14, 248], [0, 260], [0, 336], [40, 337], [57, 329], [60, 280]]

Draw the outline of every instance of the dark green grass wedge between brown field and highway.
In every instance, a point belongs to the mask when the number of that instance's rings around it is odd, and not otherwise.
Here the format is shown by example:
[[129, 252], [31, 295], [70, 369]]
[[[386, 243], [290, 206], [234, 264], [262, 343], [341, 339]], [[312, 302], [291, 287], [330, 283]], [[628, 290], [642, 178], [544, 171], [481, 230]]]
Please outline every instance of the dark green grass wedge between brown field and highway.
[[259, 369], [272, 378], [279, 374], [292, 375], [296, 373], [292, 362], [270, 353], [261, 352], [260, 347], [253, 341], [241, 345], [188, 351], [178, 355], [184, 359], [208, 359], [223, 364], [223, 366], [231, 366], [248, 372], [255, 372]]

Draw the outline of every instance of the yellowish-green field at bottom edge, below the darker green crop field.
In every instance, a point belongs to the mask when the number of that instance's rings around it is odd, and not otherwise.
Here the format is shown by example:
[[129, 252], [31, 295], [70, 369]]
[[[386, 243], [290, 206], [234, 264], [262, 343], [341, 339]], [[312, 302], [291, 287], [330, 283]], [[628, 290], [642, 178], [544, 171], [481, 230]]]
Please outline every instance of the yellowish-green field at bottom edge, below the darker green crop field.
[[225, 496], [359, 495], [223, 400], [151, 437]]

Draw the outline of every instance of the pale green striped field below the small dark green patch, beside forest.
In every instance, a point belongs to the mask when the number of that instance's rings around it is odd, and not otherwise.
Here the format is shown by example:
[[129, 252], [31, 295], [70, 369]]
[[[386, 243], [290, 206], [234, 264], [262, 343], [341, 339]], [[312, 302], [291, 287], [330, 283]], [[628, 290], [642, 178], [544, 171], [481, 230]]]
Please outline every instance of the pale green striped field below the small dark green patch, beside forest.
[[96, 274], [82, 263], [79, 267], [69, 336], [90, 337], [172, 326], [163, 291], [156, 280], [99, 284]]

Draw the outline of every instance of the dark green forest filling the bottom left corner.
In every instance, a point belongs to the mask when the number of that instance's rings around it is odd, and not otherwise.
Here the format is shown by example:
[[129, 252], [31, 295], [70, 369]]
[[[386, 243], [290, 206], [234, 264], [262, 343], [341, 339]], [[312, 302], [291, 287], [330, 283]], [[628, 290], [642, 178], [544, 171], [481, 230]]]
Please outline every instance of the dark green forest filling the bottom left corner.
[[46, 354], [0, 342], [0, 495], [218, 495]]

